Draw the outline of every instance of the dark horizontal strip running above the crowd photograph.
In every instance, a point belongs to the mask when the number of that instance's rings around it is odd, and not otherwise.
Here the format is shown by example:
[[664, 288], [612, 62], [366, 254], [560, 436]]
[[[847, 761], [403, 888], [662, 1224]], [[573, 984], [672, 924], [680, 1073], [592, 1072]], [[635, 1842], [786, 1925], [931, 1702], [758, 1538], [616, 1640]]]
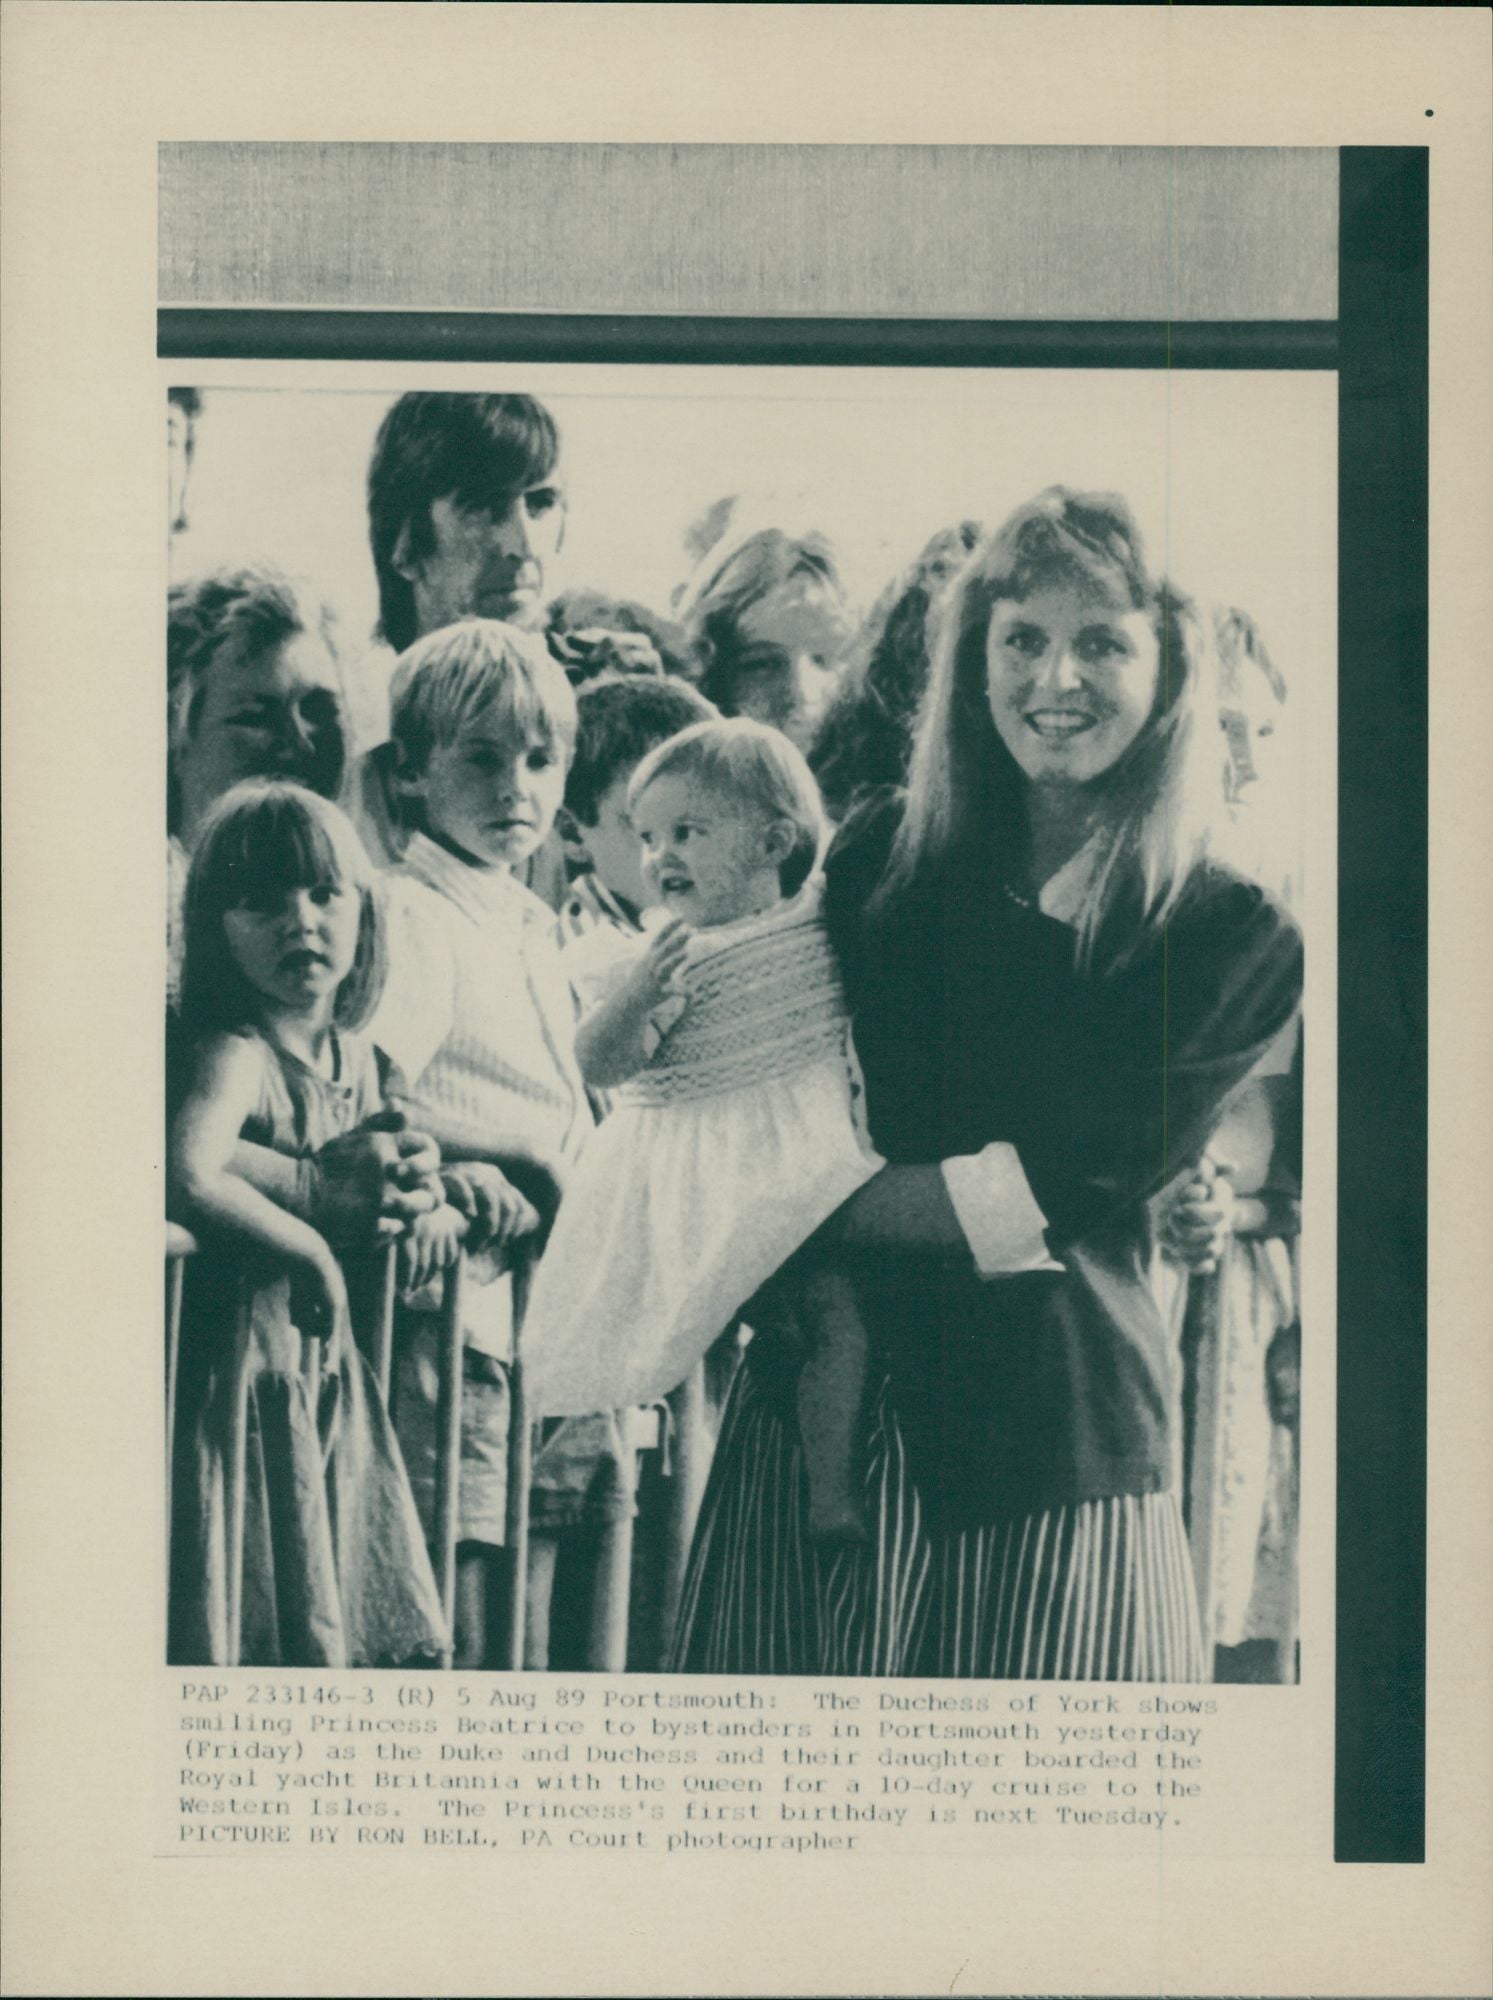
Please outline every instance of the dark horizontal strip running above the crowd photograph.
[[162, 360], [1335, 368], [1333, 320], [829, 320], [162, 306]]

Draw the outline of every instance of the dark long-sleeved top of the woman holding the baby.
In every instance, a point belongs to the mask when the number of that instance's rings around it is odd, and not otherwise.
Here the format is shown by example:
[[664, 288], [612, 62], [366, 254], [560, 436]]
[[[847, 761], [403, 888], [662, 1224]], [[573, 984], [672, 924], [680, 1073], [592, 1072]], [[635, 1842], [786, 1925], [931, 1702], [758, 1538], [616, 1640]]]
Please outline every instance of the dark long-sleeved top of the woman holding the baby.
[[1167, 1344], [1147, 1202], [1199, 1158], [1227, 1094], [1291, 1018], [1301, 936], [1259, 888], [1201, 872], [1149, 946], [1075, 968], [1075, 932], [971, 858], [869, 916], [899, 804], [829, 858], [877, 1148], [937, 1162], [1009, 1140], [1063, 1272], [981, 1280], [969, 1252], [867, 1258], [909, 1464], [941, 1526], [1171, 1480]]

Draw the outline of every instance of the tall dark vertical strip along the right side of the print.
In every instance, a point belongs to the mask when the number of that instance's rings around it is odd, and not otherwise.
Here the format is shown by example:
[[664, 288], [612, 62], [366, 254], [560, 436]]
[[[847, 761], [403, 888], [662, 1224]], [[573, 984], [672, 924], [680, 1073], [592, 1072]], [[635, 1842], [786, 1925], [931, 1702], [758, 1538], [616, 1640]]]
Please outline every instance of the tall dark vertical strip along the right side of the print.
[[1339, 1862], [1425, 1860], [1429, 154], [1345, 146], [1339, 258]]

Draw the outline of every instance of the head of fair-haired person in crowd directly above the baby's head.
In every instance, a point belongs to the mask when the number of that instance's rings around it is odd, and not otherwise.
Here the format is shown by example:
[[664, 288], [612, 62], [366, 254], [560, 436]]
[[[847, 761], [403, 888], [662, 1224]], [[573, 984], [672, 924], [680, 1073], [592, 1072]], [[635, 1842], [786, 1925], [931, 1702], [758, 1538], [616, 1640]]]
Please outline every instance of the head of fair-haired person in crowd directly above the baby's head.
[[809, 756], [845, 674], [855, 618], [835, 544], [736, 508], [694, 564], [674, 618], [700, 692], [783, 730]]

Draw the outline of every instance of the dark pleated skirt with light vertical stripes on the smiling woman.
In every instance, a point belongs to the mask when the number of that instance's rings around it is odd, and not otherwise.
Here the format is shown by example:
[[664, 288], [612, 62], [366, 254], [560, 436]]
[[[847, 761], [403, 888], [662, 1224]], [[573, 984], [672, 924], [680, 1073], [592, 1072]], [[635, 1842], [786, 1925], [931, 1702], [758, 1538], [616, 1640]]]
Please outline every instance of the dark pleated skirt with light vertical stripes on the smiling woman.
[[738, 1370], [694, 1530], [676, 1674], [1203, 1680], [1173, 1494], [931, 1534], [883, 1390], [865, 1546], [809, 1536], [797, 1426]]

